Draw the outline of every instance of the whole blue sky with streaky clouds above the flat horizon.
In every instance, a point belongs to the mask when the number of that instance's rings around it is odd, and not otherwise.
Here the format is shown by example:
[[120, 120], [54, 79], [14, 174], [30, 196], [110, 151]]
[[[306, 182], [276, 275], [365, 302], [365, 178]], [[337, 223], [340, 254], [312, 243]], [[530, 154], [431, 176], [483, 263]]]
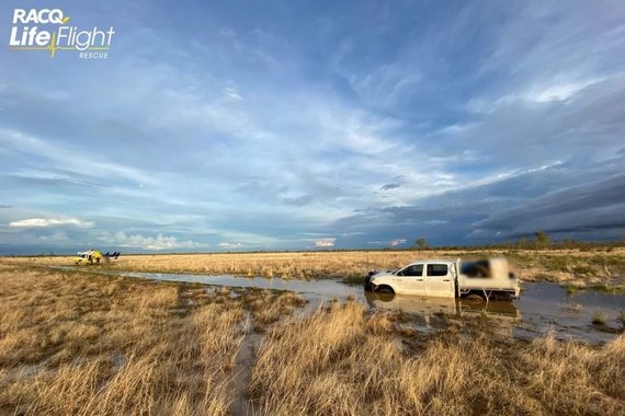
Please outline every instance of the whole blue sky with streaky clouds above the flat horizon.
[[625, 236], [622, 1], [54, 7], [115, 34], [0, 4], [0, 254]]

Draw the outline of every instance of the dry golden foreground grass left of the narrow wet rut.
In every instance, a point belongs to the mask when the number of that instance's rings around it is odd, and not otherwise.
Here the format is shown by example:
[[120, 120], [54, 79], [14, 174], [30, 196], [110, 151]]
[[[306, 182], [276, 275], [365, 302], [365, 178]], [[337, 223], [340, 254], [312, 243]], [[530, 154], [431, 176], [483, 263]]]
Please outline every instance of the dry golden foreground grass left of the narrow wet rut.
[[227, 414], [257, 298], [0, 266], [0, 414]]

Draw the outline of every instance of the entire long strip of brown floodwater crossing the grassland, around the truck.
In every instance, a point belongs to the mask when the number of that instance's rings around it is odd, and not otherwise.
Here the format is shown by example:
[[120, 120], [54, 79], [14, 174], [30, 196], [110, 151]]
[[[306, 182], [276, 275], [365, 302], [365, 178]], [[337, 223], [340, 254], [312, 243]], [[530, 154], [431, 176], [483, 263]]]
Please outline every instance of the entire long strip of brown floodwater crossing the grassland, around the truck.
[[[309, 301], [308, 308], [350, 297], [372, 310], [402, 312], [421, 331], [436, 331], [448, 325], [450, 321], [479, 317], [488, 320], [489, 325], [498, 332], [519, 338], [554, 333], [561, 339], [606, 342], [623, 331], [620, 316], [625, 313], [625, 296], [596, 291], [568, 294], [565, 288], [552, 282], [523, 282], [520, 299], [513, 301], [476, 303], [457, 299], [368, 293], [362, 286], [350, 286], [334, 279], [295, 280], [135, 271], [115, 274], [151, 280], [288, 290], [302, 293]], [[592, 324], [596, 315], [603, 315], [605, 324]]]

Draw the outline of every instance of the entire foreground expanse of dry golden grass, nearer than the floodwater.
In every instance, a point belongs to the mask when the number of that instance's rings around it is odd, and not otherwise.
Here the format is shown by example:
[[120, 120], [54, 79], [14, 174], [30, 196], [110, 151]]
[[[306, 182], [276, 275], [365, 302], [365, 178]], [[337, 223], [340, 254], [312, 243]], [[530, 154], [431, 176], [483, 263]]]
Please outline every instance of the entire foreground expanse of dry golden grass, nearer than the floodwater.
[[[0, 414], [229, 414], [241, 391], [249, 408], [272, 415], [625, 406], [625, 335], [603, 346], [515, 342], [479, 320], [422, 335], [405, 316], [352, 301], [294, 316], [302, 303], [293, 293], [0, 265]], [[248, 380], [238, 356], [259, 337]]]

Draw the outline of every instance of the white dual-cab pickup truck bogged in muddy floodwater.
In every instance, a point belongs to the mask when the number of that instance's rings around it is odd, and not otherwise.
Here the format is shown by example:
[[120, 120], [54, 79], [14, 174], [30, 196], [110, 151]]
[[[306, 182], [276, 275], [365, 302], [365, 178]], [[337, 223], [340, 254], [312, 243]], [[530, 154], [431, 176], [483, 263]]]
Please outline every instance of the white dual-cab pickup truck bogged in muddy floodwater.
[[518, 298], [521, 288], [508, 261], [497, 257], [418, 261], [394, 271], [370, 271], [365, 290], [489, 300]]

